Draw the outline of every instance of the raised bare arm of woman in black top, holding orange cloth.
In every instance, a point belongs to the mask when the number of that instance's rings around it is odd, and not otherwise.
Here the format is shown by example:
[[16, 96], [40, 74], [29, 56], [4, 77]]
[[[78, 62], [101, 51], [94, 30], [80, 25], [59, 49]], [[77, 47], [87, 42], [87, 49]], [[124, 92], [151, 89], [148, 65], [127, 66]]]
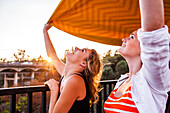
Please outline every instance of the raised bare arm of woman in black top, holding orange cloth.
[[51, 25], [45, 24], [43, 32], [44, 32], [44, 40], [45, 40], [45, 47], [47, 51], [48, 57], [52, 59], [52, 64], [57, 69], [59, 74], [62, 76], [65, 64], [58, 58], [56, 51], [53, 47], [53, 44], [50, 40], [48, 30], [51, 28]]

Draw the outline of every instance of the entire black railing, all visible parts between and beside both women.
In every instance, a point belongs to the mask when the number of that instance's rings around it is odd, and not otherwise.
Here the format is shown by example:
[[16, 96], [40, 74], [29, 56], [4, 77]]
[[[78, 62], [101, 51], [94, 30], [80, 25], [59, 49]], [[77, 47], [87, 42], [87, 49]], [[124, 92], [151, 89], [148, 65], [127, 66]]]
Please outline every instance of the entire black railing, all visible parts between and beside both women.
[[[109, 85], [109, 93], [112, 91], [112, 87], [113, 87], [113, 84], [115, 85], [117, 82], [117, 80], [103, 80], [103, 81], [100, 81], [100, 84], [101, 85], [104, 85], [104, 84], [108, 84]], [[107, 86], [108, 86], [107, 85]], [[107, 88], [106, 85], [104, 85], [104, 88]], [[11, 108], [10, 108], [10, 111], [15, 111], [16, 110], [16, 94], [21, 94], [21, 93], [27, 93], [29, 97], [28, 100], [30, 105], [32, 103], [32, 93], [33, 92], [42, 92], [42, 111], [43, 112], [46, 112], [46, 91], [50, 91], [49, 87], [47, 85], [37, 85], [37, 86], [24, 86], [24, 87], [11, 87], [11, 88], [0, 88], [0, 96], [3, 96], [3, 95], [11, 95]], [[104, 91], [104, 90], [103, 90]], [[99, 97], [103, 100], [103, 96], [101, 95], [102, 92], [99, 93]], [[104, 93], [104, 97], [105, 96], [108, 96], [108, 94], [106, 94], [106, 90], [103, 92]], [[108, 92], [107, 92], [108, 93]], [[168, 95], [170, 95], [170, 92], [168, 92]], [[106, 99], [107, 97], [105, 97]], [[100, 104], [99, 104], [100, 103]], [[168, 99], [168, 102], [167, 102], [167, 106], [166, 108], [169, 108], [169, 103], [170, 103], [170, 100]], [[91, 113], [93, 113], [94, 109], [96, 109], [97, 113], [99, 113], [99, 109], [102, 107], [101, 106], [102, 101], [101, 102], [98, 102], [97, 104], [93, 104], [93, 107], [91, 108]], [[28, 105], [27, 107], [29, 108], [29, 112], [32, 111], [32, 106]], [[29, 107], [30, 106], [30, 107]], [[169, 111], [169, 110], [168, 110]], [[168, 113], [168, 111], [166, 111]], [[102, 111], [103, 112], [103, 111]]]

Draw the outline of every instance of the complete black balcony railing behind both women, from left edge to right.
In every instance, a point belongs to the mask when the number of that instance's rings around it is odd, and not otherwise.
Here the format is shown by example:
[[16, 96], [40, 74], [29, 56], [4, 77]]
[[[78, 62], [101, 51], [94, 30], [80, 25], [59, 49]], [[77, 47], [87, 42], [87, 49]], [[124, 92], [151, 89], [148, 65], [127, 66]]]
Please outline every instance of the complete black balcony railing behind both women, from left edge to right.
[[[90, 108], [91, 113], [104, 113], [103, 103], [107, 99], [110, 92], [113, 90], [115, 80], [105, 80], [101, 81], [102, 90], [99, 92], [99, 101], [96, 104], [93, 104]], [[32, 93], [42, 92], [41, 96], [41, 113], [46, 113], [46, 92], [49, 91], [48, 86], [28, 86], [28, 87], [15, 87], [15, 88], [1, 88], [0, 96], [10, 95], [10, 113], [16, 111], [16, 94], [27, 94], [27, 113], [32, 113]], [[170, 93], [169, 93], [170, 94]], [[167, 102], [167, 109], [165, 113], [170, 112], [170, 100]]]

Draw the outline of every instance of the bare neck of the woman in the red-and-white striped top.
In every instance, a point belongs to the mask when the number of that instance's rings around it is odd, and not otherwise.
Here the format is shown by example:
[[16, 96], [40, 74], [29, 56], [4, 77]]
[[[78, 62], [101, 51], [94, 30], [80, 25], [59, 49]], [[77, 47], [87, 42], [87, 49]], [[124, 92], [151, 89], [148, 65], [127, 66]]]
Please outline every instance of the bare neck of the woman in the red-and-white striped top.
[[142, 67], [142, 61], [141, 61], [140, 56], [136, 56], [133, 58], [131, 58], [131, 57], [126, 58], [126, 61], [129, 66], [129, 74], [130, 75], [136, 74]]

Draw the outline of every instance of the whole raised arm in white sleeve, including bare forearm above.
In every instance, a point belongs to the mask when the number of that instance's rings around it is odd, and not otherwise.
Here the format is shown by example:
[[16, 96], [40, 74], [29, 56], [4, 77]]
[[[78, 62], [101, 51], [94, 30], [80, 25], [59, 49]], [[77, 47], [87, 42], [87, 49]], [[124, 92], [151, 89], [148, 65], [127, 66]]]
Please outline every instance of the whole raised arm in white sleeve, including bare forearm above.
[[141, 48], [142, 73], [152, 89], [168, 91], [169, 32], [168, 27], [164, 26], [163, 0], [139, 1], [142, 29], [138, 30], [137, 37]]

